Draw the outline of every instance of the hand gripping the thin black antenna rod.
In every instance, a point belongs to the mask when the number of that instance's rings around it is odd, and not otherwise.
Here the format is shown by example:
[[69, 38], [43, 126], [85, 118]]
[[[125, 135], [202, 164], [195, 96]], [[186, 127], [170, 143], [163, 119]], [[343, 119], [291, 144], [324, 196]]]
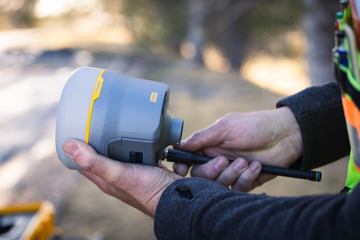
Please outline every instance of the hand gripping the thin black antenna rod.
[[[231, 185], [236, 191], [250, 191], [275, 177], [260, 174], [261, 164], [287, 168], [301, 156], [302, 138], [291, 109], [282, 107], [228, 114], [195, 132], [177, 149], [216, 157], [194, 165], [191, 176]], [[235, 159], [230, 167], [228, 159]], [[181, 176], [189, 171], [184, 164], [174, 163], [173, 167]]]

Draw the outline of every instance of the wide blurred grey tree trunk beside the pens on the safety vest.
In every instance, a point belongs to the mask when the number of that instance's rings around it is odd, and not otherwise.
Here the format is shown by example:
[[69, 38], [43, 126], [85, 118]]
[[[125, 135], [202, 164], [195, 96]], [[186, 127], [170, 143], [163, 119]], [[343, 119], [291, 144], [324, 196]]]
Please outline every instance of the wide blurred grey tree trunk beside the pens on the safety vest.
[[307, 36], [307, 62], [311, 85], [335, 81], [332, 71], [335, 13], [340, 11], [338, 0], [305, 0], [304, 18]]

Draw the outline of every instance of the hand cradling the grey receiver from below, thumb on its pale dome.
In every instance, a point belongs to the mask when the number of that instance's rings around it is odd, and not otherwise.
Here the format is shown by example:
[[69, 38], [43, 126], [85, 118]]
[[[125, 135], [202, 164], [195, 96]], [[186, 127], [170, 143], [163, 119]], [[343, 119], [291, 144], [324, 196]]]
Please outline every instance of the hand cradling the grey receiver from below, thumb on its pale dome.
[[118, 162], [104, 157], [85, 142], [69, 139], [62, 145], [63, 150], [82, 169], [79, 171], [93, 181], [104, 193], [139, 209], [150, 217], [155, 210], [162, 192], [180, 175], [166, 169], [140, 164]]

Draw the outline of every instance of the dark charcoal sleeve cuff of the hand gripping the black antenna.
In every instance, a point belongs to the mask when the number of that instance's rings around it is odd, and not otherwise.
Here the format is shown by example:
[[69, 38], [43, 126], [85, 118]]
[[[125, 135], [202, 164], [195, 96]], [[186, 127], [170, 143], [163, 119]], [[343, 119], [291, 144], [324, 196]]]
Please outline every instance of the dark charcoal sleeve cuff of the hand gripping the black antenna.
[[300, 126], [303, 153], [293, 165], [304, 170], [323, 166], [350, 153], [339, 86], [330, 82], [309, 87], [283, 98], [276, 107], [288, 106]]

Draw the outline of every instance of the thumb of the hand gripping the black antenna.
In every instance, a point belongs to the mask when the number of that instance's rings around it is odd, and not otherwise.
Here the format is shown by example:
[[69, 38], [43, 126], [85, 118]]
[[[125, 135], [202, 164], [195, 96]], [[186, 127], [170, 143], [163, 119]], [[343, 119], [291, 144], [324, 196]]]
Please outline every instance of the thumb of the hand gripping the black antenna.
[[195, 152], [203, 148], [219, 145], [224, 140], [223, 136], [225, 136], [222, 125], [221, 122], [217, 121], [207, 128], [193, 133], [188, 139], [181, 141], [180, 147], [177, 149]]

